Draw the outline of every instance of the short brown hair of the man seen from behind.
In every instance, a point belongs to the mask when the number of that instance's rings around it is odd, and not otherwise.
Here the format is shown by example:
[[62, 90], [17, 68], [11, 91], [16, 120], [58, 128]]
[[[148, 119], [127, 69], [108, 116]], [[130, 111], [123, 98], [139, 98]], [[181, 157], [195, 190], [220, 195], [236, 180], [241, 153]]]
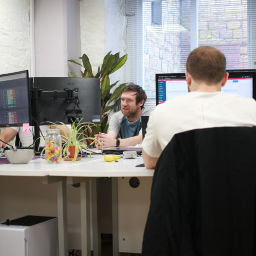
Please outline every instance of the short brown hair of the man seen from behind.
[[195, 81], [212, 86], [221, 82], [226, 73], [226, 57], [212, 46], [200, 46], [189, 53], [186, 70]]

